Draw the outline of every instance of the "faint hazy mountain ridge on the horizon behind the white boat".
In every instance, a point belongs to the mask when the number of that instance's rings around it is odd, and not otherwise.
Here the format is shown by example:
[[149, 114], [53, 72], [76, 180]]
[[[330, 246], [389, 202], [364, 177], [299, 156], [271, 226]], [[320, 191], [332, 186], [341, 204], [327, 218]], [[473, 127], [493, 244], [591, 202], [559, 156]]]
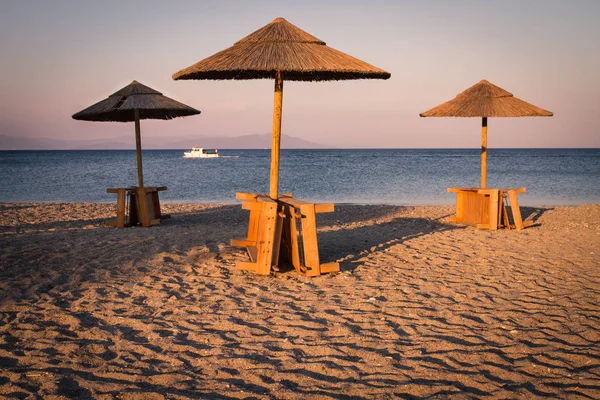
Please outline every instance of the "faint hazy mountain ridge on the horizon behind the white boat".
[[[215, 149], [265, 149], [271, 148], [271, 134], [243, 135], [235, 137], [145, 137], [142, 148], [146, 150], [190, 149], [193, 146]], [[325, 149], [320, 143], [294, 136], [282, 135], [283, 149]], [[135, 149], [135, 138], [107, 138], [95, 140], [58, 140], [50, 138], [26, 138], [0, 135], [0, 150], [127, 150]]]

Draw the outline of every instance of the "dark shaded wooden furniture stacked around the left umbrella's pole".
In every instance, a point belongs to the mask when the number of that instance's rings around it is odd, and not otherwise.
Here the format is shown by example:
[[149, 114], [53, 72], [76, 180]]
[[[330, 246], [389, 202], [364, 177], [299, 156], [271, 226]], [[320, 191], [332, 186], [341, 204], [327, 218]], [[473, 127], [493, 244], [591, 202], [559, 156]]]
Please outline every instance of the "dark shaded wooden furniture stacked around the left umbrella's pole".
[[[158, 192], [167, 190], [166, 186], [144, 186], [128, 188], [109, 188], [107, 193], [117, 194], [117, 218], [106, 222], [106, 226], [125, 228], [140, 224], [143, 227], [160, 224], [170, 218], [161, 214]], [[129, 203], [129, 207], [127, 207]], [[127, 211], [129, 212], [127, 215]]]

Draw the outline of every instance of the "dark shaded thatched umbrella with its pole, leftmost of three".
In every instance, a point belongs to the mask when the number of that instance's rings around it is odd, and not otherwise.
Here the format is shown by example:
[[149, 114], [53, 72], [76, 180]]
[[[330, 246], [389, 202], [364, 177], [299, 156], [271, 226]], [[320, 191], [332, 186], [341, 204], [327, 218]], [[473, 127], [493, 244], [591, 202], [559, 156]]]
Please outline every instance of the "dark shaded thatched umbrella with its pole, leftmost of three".
[[200, 111], [163, 96], [162, 93], [137, 81], [133, 81], [123, 89], [108, 96], [107, 99], [73, 114], [73, 119], [81, 121], [134, 121], [138, 187], [142, 188], [144, 187], [144, 179], [140, 119], [173, 119], [195, 114], [200, 114]]

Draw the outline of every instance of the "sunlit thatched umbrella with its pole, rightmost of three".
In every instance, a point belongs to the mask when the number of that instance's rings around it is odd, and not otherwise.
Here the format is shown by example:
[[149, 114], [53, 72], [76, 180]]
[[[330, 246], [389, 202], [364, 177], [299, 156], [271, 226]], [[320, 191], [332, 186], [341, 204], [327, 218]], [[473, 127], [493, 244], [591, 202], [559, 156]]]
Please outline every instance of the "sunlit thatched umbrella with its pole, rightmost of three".
[[419, 114], [421, 117], [482, 117], [481, 187], [486, 187], [487, 118], [551, 117], [552, 113], [524, 102], [486, 80], [471, 86], [455, 99]]

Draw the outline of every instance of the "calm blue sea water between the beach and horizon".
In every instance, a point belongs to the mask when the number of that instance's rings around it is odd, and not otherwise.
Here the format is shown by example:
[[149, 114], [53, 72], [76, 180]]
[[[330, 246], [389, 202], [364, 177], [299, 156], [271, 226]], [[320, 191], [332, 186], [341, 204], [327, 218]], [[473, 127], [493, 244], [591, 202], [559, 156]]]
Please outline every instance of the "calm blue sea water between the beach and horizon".
[[[144, 150], [144, 184], [161, 201], [236, 203], [269, 190], [270, 150]], [[114, 202], [108, 187], [137, 185], [134, 150], [0, 151], [0, 202]], [[448, 187], [480, 184], [479, 149], [282, 150], [280, 193], [315, 202], [453, 204]], [[600, 149], [490, 149], [488, 187], [526, 187], [523, 205], [600, 203]]]

